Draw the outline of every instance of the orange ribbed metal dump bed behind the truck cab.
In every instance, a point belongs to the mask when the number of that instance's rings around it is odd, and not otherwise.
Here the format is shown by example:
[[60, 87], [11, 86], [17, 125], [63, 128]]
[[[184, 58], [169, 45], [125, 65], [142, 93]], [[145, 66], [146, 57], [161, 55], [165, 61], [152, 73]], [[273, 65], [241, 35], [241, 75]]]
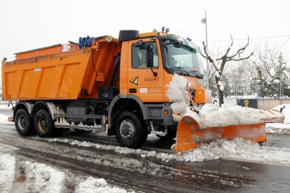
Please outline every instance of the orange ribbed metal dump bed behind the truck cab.
[[97, 98], [98, 87], [109, 85], [120, 44], [104, 36], [83, 50], [50, 51], [2, 64], [4, 100]]

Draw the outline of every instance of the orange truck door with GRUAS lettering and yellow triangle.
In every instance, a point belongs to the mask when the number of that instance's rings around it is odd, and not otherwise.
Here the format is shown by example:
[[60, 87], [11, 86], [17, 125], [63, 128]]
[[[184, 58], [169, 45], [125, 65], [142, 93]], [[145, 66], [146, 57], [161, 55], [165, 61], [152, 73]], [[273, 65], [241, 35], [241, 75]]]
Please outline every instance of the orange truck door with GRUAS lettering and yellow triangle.
[[151, 68], [146, 67], [147, 50], [135, 47], [134, 43], [139, 40], [129, 42], [128, 49], [128, 71], [127, 85], [128, 94], [138, 96], [143, 102], [163, 101], [163, 62], [160, 51], [160, 43], [157, 38], [145, 38], [144, 43], [153, 43], [153, 75]]

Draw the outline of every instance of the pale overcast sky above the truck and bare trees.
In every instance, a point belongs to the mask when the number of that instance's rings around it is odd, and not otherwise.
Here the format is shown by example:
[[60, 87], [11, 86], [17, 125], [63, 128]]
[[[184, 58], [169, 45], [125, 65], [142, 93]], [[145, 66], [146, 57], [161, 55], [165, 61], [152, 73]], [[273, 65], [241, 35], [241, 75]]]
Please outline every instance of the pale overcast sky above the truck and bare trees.
[[163, 26], [201, 45], [205, 40], [205, 24], [200, 20], [205, 17], [205, 10], [209, 47], [229, 44], [216, 40], [228, 40], [230, 35], [234, 39], [249, 35], [258, 38], [250, 40], [251, 49], [268, 41], [287, 55], [290, 48], [289, 8], [287, 0], [1, 0], [0, 58], [7, 57], [11, 61], [15, 52], [67, 41], [78, 42], [80, 36], [118, 38], [120, 29], [146, 32]]

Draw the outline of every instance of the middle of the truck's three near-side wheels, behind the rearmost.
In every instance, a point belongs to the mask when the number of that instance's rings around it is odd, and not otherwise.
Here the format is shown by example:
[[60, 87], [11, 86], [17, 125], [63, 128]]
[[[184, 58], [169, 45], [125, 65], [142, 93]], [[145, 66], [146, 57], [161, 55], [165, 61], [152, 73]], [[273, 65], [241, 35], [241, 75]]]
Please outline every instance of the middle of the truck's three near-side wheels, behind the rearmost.
[[41, 138], [53, 136], [55, 127], [50, 113], [43, 109], [39, 110], [34, 118], [34, 128], [36, 134]]

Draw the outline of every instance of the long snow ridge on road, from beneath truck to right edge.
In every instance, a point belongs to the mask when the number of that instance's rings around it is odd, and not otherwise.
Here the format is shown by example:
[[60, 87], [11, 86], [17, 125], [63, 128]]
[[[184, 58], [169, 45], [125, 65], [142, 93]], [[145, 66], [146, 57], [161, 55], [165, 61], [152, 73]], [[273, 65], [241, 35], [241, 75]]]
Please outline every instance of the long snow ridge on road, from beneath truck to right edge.
[[209, 144], [202, 144], [198, 148], [189, 150], [188, 152], [178, 154], [164, 153], [147, 150], [134, 150], [130, 148], [116, 147], [113, 145], [102, 145], [99, 143], [91, 143], [87, 141], [77, 141], [67, 138], [53, 138], [50, 141], [59, 141], [69, 143], [71, 145], [101, 148], [105, 150], [113, 150], [120, 154], [137, 154], [141, 158], [155, 157], [165, 162], [177, 160], [183, 162], [202, 162], [213, 159], [237, 159], [246, 160], [248, 162], [260, 162], [265, 164], [281, 164], [290, 166], [290, 149], [289, 148], [270, 148], [261, 147], [253, 141], [246, 141], [242, 138], [235, 138], [233, 141], [216, 140]]

